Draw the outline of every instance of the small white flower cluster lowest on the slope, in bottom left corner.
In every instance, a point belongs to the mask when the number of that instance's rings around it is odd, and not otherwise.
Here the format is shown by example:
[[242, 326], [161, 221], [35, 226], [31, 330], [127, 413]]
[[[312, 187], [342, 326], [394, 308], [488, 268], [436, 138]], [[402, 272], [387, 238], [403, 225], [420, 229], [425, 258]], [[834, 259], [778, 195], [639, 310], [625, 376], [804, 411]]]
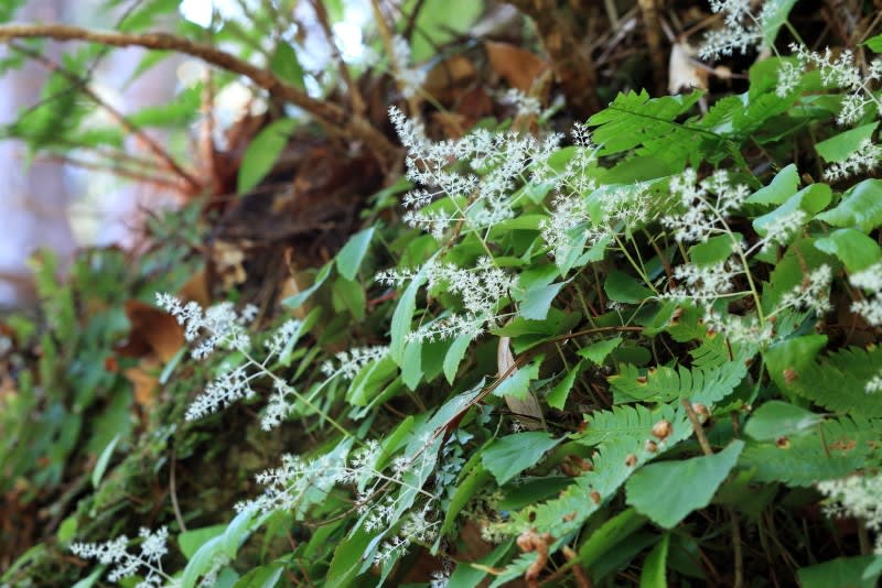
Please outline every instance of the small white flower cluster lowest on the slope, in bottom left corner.
[[96, 559], [106, 566], [115, 566], [108, 576], [112, 582], [140, 574], [143, 580], [138, 582], [136, 588], [174, 585], [174, 580], [162, 570], [162, 556], [169, 551], [166, 546], [169, 530], [163, 526], [153, 533], [142, 527], [139, 536], [141, 552], [135, 555], [128, 552], [129, 537], [126, 535], [104, 543], [73, 543], [71, 552], [84, 559]]

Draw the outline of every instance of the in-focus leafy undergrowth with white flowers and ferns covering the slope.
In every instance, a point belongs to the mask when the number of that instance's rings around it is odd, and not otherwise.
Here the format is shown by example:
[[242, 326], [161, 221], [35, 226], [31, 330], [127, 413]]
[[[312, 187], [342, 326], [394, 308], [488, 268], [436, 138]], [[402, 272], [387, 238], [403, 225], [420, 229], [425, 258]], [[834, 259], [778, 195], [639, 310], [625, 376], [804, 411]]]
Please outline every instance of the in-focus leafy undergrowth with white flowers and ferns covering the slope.
[[[771, 45], [790, 6], [712, 4], [736, 36], [706, 56]], [[169, 381], [211, 374], [187, 426], [248, 411], [313, 444], [224, 524], [69, 551], [140, 586], [401, 584], [417, 562], [432, 586], [873, 585], [880, 63], [797, 44], [706, 112], [631, 91], [568, 138], [432, 141], [392, 107], [400, 221], [379, 198], [288, 317], [157, 295], [191, 344]]]

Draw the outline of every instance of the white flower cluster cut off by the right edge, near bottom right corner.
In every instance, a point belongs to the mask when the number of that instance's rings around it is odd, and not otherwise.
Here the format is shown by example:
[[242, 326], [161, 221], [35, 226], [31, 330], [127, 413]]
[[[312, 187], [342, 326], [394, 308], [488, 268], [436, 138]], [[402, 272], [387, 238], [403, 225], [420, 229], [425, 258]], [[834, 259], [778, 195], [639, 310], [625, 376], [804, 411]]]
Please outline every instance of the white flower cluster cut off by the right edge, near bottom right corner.
[[882, 555], [882, 473], [849, 476], [818, 483], [818, 491], [830, 498], [827, 514], [854, 518], [875, 533], [875, 554]]

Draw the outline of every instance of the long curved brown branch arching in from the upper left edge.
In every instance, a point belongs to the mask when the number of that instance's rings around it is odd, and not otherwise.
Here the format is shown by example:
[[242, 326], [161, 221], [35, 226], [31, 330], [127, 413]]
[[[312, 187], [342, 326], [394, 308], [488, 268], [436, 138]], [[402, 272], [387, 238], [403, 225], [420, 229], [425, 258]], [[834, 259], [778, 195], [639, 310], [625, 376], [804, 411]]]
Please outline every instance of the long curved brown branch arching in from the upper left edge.
[[316, 100], [306, 92], [279, 79], [271, 72], [257, 67], [217, 47], [196, 43], [169, 33], [120, 33], [96, 31], [67, 24], [6, 24], [0, 26], [0, 41], [14, 39], [54, 39], [55, 41], [84, 41], [115, 47], [138, 46], [155, 51], [174, 51], [197, 57], [205, 63], [220, 67], [250, 79], [256, 86], [272, 96], [302, 108], [321, 122], [364, 141], [368, 149], [384, 163], [390, 163], [398, 150], [363, 117], [349, 117], [337, 105]]

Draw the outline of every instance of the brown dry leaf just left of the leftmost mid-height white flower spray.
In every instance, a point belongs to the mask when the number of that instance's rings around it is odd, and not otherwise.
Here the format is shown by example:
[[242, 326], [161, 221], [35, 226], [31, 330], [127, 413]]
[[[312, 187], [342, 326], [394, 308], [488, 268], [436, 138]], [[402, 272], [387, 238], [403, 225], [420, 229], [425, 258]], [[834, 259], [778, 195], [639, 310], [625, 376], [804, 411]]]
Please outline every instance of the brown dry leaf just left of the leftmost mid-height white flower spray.
[[129, 357], [144, 357], [150, 352], [166, 362], [184, 345], [184, 329], [178, 320], [163, 311], [140, 301], [126, 302], [126, 316], [131, 323], [129, 341], [119, 352]]

